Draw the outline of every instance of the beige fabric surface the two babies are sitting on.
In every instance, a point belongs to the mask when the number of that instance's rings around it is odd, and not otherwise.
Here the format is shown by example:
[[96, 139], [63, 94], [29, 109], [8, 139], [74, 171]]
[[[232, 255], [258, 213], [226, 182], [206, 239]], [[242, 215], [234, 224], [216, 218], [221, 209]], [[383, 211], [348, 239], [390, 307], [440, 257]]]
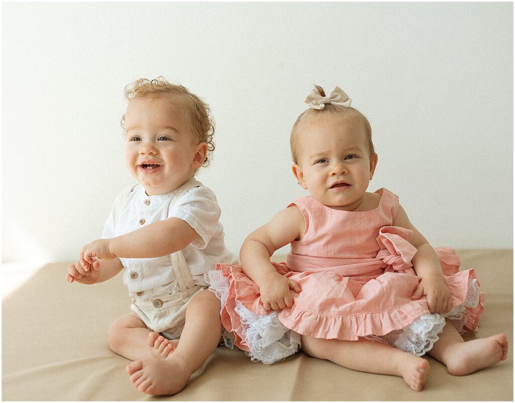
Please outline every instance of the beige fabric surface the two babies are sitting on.
[[428, 358], [421, 392], [401, 378], [366, 374], [299, 352], [285, 361], [253, 363], [243, 351], [218, 347], [175, 396], [134, 389], [129, 360], [108, 346], [107, 329], [129, 312], [120, 275], [93, 286], [65, 282], [66, 263], [49, 264], [2, 302], [3, 400], [513, 400], [513, 251], [458, 250], [487, 293], [475, 334], [506, 333], [508, 359], [455, 377]]

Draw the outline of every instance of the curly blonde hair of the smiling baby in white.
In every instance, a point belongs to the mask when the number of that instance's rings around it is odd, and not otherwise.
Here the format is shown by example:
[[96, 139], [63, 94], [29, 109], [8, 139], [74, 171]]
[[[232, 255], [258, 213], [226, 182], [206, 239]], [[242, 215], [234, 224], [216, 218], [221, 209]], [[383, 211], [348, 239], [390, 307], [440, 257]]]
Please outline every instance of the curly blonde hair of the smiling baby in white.
[[[186, 87], [179, 84], [168, 83], [163, 76], [152, 80], [140, 78], [136, 82], [125, 87], [125, 99], [130, 102], [133, 99], [145, 96], [168, 96], [173, 102], [180, 103], [190, 115], [195, 140], [198, 143], [208, 144], [208, 154], [202, 164], [209, 165], [215, 149], [213, 135], [215, 134], [215, 123], [211, 117], [209, 105], [203, 102], [197, 95], [193, 94]], [[125, 136], [125, 114], [122, 115], [121, 126]]]

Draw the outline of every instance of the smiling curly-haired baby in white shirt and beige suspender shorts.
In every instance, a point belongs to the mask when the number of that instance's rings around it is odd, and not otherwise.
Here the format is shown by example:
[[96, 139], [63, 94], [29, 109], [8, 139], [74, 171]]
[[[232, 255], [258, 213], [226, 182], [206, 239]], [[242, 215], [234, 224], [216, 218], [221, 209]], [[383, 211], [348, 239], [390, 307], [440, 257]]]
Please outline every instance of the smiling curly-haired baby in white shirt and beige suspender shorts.
[[220, 301], [203, 275], [235, 258], [215, 195], [194, 177], [214, 149], [209, 107], [162, 77], [138, 80], [126, 99], [125, 160], [139, 184], [118, 195], [102, 239], [82, 248], [66, 280], [94, 284], [125, 269], [131, 312], [110, 326], [109, 345], [133, 360], [136, 388], [171, 395], [220, 339]]

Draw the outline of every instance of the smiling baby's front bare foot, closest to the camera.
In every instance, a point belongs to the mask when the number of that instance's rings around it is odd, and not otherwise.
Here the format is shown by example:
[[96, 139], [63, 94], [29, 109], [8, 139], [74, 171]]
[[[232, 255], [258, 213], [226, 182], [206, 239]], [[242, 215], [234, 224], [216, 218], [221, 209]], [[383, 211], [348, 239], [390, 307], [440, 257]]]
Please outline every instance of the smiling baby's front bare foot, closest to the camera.
[[191, 376], [186, 363], [175, 354], [167, 360], [134, 361], [125, 370], [136, 389], [154, 396], [169, 396], [182, 391]]

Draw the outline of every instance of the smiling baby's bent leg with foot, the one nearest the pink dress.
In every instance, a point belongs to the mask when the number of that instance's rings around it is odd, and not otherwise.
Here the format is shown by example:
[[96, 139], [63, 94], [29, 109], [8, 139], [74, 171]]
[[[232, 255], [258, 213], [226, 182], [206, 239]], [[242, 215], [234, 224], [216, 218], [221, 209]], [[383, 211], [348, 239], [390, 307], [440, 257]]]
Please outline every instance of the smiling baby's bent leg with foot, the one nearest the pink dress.
[[164, 360], [143, 359], [127, 365], [132, 384], [149, 395], [180, 392], [218, 346], [220, 333], [220, 301], [207, 290], [196, 294], [187, 307], [184, 329], [175, 351]]

